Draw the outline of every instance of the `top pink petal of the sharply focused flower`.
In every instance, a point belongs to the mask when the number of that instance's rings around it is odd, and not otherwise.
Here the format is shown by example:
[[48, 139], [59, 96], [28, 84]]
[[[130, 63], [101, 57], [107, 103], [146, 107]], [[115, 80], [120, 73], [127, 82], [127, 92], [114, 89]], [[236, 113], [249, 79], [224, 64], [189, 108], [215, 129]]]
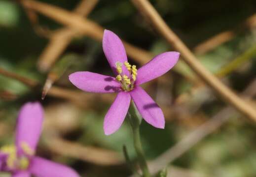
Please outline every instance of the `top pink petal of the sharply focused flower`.
[[[112, 31], [105, 29], [103, 34], [103, 51], [110, 63], [110, 67], [114, 74], [117, 75], [115, 63], [117, 61], [124, 63], [127, 61], [127, 55], [121, 39]], [[130, 75], [127, 68], [122, 66], [124, 74]]]

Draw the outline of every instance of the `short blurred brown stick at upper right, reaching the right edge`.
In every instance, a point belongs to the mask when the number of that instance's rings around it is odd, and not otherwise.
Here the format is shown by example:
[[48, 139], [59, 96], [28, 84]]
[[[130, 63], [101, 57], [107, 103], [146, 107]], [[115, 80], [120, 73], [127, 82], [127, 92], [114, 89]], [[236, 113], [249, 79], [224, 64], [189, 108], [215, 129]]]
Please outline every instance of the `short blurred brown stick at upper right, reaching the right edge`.
[[256, 14], [247, 18], [246, 21], [240, 24], [239, 27], [237, 27], [236, 29], [223, 31], [211, 37], [210, 39], [198, 44], [193, 51], [196, 54], [202, 55], [204, 53], [209, 52], [210, 50], [213, 50], [222, 43], [232, 40], [236, 36], [236, 34], [240, 32], [242, 29], [254, 27], [256, 27]]

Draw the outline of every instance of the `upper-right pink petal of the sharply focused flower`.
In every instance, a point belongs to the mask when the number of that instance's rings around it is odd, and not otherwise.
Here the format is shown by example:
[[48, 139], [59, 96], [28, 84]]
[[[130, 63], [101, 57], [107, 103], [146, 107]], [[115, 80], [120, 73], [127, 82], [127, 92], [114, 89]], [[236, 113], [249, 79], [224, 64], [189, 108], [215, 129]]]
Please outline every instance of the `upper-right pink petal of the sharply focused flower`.
[[162, 53], [138, 69], [136, 84], [141, 85], [169, 71], [178, 61], [179, 52]]

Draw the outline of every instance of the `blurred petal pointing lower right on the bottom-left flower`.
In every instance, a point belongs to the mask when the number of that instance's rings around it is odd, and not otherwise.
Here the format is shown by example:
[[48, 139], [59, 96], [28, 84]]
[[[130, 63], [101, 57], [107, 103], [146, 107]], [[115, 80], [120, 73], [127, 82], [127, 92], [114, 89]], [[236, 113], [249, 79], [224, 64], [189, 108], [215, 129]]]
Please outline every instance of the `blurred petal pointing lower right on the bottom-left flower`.
[[79, 177], [72, 168], [41, 157], [32, 159], [29, 171], [36, 177]]

